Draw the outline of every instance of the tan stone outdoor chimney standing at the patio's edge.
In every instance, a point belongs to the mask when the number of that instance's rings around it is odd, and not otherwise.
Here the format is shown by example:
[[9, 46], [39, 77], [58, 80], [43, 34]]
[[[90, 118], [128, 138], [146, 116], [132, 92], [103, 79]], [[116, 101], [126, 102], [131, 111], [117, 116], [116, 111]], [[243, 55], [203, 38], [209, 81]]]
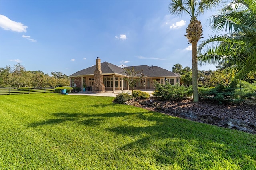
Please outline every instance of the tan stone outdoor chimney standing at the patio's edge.
[[103, 84], [103, 75], [101, 71], [101, 63], [99, 57], [96, 59], [96, 69], [94, 71], [94, 84], [92, 86], [93, 93], [104, 93], [105, 86]]

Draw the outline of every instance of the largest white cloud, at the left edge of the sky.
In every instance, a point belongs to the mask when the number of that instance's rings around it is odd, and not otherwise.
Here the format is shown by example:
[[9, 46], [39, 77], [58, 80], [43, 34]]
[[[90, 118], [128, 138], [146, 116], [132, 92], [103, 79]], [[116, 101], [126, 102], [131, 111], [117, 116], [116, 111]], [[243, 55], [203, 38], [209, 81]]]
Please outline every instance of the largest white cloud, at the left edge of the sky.
[[11, 30], [15, 32], [26, 32], [26, 29], [28, 28], [28, 26], [24, 26], [20, 22], [12, 21], [4, 15], [0, 15], [0, 27], [4, 30]]

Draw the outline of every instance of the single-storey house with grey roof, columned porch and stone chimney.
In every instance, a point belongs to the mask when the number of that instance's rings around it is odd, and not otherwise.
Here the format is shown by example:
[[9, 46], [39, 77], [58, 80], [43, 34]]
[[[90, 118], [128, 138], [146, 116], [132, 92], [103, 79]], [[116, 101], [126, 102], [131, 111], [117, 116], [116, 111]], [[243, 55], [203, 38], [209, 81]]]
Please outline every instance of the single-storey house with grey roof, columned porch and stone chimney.
[[[175, 85], [180, 82], [180, 75], [157, 66], [139, 65], [129, 66], [126, 69], [142, 70], [144, 77], [134, 87], [134, 89], [154, 90], [154, 81], [165, 84], [166, 82]], [[104, 93], [105, 91], [129, 90], [128, 82], [123, 79], [127, 77], [124, 69], [108, 62], [100, 62], [96, 59], [96, 65], [80, 70], [70, 77], [70, 87], [90, 87], [94, 93]]]

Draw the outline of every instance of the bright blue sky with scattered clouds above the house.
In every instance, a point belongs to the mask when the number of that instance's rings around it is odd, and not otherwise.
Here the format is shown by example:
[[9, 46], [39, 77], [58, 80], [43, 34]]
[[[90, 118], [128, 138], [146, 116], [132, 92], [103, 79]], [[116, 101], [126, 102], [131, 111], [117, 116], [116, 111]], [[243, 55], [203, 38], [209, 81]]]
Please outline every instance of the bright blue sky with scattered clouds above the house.
[[[26, 70], [71, 75], [95, 65], [97, 57], [120, 67], [192, 67], [191, 46], [184, 36], [190, 17], [170, 15], [169, 3], [1, 0], [0, 67], [19, 62]], [[206, 23], [213, 14], [198, 17], [205, 38], [213, 35]]]

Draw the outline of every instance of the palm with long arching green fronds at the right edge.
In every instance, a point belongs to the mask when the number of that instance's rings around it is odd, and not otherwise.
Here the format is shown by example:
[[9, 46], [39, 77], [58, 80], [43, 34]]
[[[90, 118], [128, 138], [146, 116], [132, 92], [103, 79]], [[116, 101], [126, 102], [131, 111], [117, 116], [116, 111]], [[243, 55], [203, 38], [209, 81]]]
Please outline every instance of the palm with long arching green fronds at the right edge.
[[[198, 47], [200, 63], [228, 63], [230, 78], [248, 79], [256, 75], [256, 1], [234, 0], [219, 15], [209, 18], [217, 31], [233, 32], [212, 36]], [[203, 51], [206, 48], [205, 51]]]

